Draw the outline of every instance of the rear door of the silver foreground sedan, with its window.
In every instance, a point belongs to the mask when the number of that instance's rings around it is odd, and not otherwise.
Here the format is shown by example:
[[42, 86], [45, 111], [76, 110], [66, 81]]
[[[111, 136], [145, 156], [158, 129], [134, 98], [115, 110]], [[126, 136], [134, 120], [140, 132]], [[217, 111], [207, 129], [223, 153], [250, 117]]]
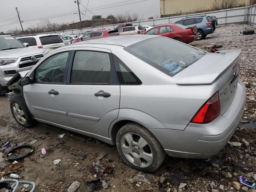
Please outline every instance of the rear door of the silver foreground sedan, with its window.
[[74, 48], [65, 85], [66, 111], [71, 127], [83, 134], [108, 138], [108, 128], [118, 117], [120, 85], [111, 51]]

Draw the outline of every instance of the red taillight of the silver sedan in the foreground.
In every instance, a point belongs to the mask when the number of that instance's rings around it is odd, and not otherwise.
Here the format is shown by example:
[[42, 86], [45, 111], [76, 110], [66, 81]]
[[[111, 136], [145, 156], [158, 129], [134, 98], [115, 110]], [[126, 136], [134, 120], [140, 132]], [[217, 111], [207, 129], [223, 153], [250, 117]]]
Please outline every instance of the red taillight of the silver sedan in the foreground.
[[220, 115], [219, 92], [216, 92], [206, 103], [198, 110], [192, 118], [192, 123], [210, 123]]

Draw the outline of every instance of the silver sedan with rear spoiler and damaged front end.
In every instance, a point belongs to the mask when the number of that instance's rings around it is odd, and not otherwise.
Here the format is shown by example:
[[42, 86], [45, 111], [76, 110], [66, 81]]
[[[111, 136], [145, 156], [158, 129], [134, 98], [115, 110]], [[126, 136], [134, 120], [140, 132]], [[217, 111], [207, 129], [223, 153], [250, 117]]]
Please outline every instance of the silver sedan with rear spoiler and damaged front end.
[[39, 121], [116, 144], [128, 165], [153, 172], [166, 154], [208, 158], [230, 140], [246, 101], [239, 55], [162, 36], [88, 40], [42, 58], [10, 106], [21, 126]]

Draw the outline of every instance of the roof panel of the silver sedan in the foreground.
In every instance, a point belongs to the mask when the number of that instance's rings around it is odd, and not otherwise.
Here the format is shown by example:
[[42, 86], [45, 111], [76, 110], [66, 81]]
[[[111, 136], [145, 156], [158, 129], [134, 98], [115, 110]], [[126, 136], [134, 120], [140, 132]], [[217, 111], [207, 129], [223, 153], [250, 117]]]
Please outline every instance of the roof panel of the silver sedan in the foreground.
[[[127, 47], [134, 43], [138, 43], [150, 38], [159, 37], [156, 35], [117, 35], [104, 38], [95, 38], [91, 40], [81, 41], [76, 44], [110, 44]], [[75, 45], [75, 44], [71, 44]]]

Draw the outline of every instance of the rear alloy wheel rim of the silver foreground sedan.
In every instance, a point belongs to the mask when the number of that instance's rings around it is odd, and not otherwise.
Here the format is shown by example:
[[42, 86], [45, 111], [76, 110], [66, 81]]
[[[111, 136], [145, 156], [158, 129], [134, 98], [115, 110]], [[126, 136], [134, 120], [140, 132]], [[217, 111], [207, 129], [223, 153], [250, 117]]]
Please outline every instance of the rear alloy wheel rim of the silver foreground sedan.
[[124, 156], [138, 167], [148, 167], [153, 162], [153, 152], [148, 142], [140, 135], [129, 132], [121, 138]]

